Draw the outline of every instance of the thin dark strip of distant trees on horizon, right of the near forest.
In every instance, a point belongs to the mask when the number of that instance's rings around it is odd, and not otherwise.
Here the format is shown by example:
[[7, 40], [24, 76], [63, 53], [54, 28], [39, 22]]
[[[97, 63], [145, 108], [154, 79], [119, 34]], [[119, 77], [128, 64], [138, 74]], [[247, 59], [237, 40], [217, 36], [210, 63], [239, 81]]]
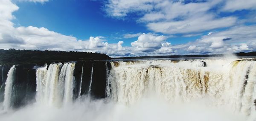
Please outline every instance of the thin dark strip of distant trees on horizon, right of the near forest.
[[[256, 56], [256, 52], [249, 53], [235, 53], [236, 56]], [[121, 57], [112, 59], [149, 59], [149, 58], [192, 58], [192, 57], [216, 57], [224, 56], [224, 54], [212, 54], [212, 55], [172, 55], [172, 56], [138, 56], [138, 57]]]

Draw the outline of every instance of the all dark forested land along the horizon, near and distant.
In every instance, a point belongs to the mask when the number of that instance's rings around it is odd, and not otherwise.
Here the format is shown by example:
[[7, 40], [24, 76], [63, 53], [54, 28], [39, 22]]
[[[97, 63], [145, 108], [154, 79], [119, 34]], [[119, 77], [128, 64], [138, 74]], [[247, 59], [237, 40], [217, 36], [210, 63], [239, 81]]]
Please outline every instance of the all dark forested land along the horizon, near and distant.
[[[256, 52], [235, 53], [236, 56], [256, 56]], [[15, 50], [0, 49], [0, 65], [18, 65], [18, 64], [38, 64], [52, 62], [71, 62], [71, 61], [95, 61], [110, 59], [148, 59], [148, 58], [186, 58], [186, 57], [215, 57], [224, 56], [224, 54], [212, 55], [170, 55], [170, 56], [137, 56], [137, 57], [121, 57], [111, 58], [102, 53], [88, 53], [75, 51], [31, 51], [31, 50]]]

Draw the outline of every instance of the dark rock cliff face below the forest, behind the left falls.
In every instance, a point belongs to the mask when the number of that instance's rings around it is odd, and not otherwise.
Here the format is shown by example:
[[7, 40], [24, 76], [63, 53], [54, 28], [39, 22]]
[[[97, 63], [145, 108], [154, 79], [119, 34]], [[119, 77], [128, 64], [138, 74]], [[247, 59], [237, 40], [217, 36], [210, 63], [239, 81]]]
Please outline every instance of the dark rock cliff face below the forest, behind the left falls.
[[[74, 64], [73, 70], [65, 66], [65, 64]], [[57, 67], [51, 65], [59, 65]], [[48, 98], [47, 91], [49, 95], [57, 94], [58, 92], [52, 92], [50, 90], [55, 86], [60, 87], [64, 92], [64, 88], [67, 88], [67, 83], [70, 84], [71, 88], [71, 98], [70, 100], [75, 100], [82, 95], [90, 96], [91, 98], [105, 98], [106, 97], [106, 70], [111, 69], [110, 62], [105, 61], [78, 61], [78, 62], [66, 62], [66, 63], [52, 63], [44, 66], [32, 65], [32, 64], [21, 64], [13, 65], [15, 70], [10, 73], [12, 75], [11, 84], [11, 98], [10, 105], [14, 108], [26, 105], [30, 102], [34, 102], [38, 97], [36, 93], [39, 90], [43, 90], [42, 95], [44, 98]], [[0, 102], [3, 102], [6, 80], [8, 71], [12, 66], [0, 65]], [[108, 68], [107, 68], [108, 67]], [[44, 68], [43, 70], [37, 68]], [[72, 70], [72, 72], [68, 72]], [[70, 75], [68, 75], [70, 73]], [[70, 76], [70, 78], [68, 78]], [[39, 84], [39, 82], [42, 82]], [[51, 84], [47, 84], [51, 82]], [[38, 86], [41, 86], [40, 88]], [[49, 85], [47, 87], [47, 85]], [[57, 88], [55, 87], [55, 88]], [[48, 90], [49, 89], [49, 90]], [[65, 94], [61, 94], [61, 98]], [[44, 100], [41, 98], [41, 100]]]

